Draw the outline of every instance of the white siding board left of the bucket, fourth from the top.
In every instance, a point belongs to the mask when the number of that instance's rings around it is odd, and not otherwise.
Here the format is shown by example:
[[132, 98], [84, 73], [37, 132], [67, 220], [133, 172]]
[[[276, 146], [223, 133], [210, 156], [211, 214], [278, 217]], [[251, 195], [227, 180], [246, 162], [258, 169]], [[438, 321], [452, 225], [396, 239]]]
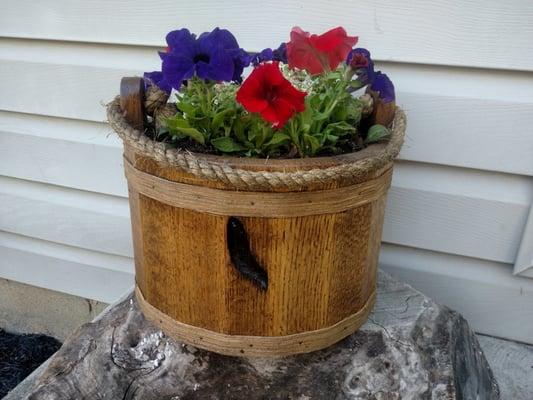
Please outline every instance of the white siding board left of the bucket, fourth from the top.
[[131, 256], [128, 200], [0, 177], [0, 230]]

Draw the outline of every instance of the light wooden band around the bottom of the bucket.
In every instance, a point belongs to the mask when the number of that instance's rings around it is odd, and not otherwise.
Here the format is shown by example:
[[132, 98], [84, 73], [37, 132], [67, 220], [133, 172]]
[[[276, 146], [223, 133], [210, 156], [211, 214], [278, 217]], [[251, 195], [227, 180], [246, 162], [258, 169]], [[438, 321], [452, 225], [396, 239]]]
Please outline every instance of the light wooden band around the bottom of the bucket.
[[176, 321], [148, 303], [138, 286], [135, 286], [135, 295], [146, 319], [167, 336], [215, 353], [243, 357], [282, 357], [331, 346], [355, 332], [366, 321], [376, 301], [374, 289], [358, 312], [327, 328], [286, 336], [243, 336], [227, 335]]

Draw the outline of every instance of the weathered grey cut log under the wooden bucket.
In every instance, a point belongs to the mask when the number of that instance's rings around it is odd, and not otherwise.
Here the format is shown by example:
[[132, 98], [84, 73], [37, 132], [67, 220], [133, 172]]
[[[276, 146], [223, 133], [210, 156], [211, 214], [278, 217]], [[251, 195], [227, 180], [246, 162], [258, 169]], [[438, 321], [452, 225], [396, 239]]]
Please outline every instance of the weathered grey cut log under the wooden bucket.
[[[355, 334], [285, 358], [228, 357], [165, 337], [133, 295], [78, 329], [17, 399], [499, 399], [467, 322], [380, 273]], [[15, 397], [8, 395], [6, 400]]]

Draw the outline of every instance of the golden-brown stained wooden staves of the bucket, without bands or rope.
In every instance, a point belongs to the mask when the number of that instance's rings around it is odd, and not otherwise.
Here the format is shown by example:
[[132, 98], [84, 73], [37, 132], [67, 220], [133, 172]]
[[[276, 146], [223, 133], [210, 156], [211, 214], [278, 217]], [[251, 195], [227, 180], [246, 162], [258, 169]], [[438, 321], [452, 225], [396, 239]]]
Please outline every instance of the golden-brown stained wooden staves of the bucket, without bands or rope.
[[[167, 185], [181, 182], [193, 189], [232, 193], [229, 184], [202, 182], [148, 160], [129, 146], [125, 157], [131, 168]], [[240, 159], [233, 162], [239, 164]], [[249, 166], [256, 168], [242, 160], [242, 168]], [[387, 187], [390, 175], [373, 175]], [[276, 216], [272, 207], [268, 217], [260, 211], [238, 217], [253, 256], [268, 274], [265, 291], [232, 265], [227, 246], [230, 215], [176, 207], [169, 199], [180, 196], [178, 190], [158, 200], [157, 193], [146, 196], [132, 183], [137, 285], [148, 303], [176, 321], [225, 335], [286, 336], [332, 326], [360, 311], [374, 293], [385, 190], [342, 211], [323, 208], [314, 215]], [[335, 190], [330, 183], [323, 186]], [[343, 189], [337, 188], [339, 196], [347, 195]], [[317, 184], [303, 193], [321, 190]], [[234, 193], [236, 199], [242, 195]], [[277, 194], [246, 193], [264, 198]], [[238, 215], [238, 204], [233, 208]]]

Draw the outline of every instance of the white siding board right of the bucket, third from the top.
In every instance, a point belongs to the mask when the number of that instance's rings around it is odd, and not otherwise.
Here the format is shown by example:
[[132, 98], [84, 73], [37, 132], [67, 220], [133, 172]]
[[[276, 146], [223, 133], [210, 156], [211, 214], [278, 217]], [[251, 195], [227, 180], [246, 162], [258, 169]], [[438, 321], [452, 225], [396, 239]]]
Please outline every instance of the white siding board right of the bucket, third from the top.
[[533, 201], [532, 183], [524, 176], [399, 162], [383, 240], [513, 263]]

